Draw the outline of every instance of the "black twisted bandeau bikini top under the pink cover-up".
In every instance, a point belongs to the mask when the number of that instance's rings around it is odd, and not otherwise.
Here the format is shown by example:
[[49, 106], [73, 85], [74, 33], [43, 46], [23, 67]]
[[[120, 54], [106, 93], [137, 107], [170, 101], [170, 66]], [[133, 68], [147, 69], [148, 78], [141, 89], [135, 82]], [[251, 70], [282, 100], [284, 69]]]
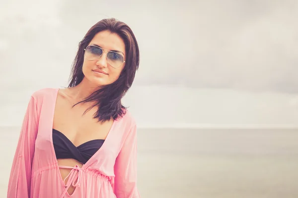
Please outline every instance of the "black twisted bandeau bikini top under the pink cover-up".
[[85, 164], [102, 146], [104, 140], [91, 140], [75, 147], [60, 131], [53, 129], [53, 144], [57, 159], [75, 159]]

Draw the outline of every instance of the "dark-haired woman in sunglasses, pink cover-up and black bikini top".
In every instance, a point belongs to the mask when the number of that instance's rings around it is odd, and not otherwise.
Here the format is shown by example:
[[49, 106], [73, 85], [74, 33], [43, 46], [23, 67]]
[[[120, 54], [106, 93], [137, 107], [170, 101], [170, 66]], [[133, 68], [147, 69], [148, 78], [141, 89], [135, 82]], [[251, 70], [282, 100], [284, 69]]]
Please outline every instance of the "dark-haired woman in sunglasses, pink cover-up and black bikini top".
[[138, 67], [138, 43], [125, 23], [91, 27], [69, 87], [30, 98], [7, 197], [140, 198], [136, 122], [121, 104]]

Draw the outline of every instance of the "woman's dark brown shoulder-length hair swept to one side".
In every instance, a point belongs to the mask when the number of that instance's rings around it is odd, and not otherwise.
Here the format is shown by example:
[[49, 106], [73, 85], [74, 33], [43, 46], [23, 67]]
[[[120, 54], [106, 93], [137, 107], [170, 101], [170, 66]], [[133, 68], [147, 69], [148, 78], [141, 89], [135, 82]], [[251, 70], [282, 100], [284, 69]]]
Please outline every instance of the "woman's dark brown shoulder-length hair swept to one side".
[[[82, 72], [82, 66], [84, 61], [84, 49], [98, 32], [104, 30], [116, 33], [124, 40], [126, 51], [125, 66], [119, 78], [114, 83], [101, 86], [86, 99], [76, 103], [95, 102], [95, 104], [87, 108], [86, 111], [94, 106], [98, 106], [94, 118], [97, 118], [98, 121], [101, 122], [110, 120], [111, 118], [116, 120], [125, 114], [127, 107], [122, 105], [121, 99], [131, 87], [140, 62], [139, 46], [130, 27], [115, 18], [103, 19], [93, 25], [86, 33], [83, 40], [79, 42], [78, 50], [72, 65], [69, 87], [74, 87], [83, 80], [84, 74]], [[74, 106], [76, 104], [74, 104]]]

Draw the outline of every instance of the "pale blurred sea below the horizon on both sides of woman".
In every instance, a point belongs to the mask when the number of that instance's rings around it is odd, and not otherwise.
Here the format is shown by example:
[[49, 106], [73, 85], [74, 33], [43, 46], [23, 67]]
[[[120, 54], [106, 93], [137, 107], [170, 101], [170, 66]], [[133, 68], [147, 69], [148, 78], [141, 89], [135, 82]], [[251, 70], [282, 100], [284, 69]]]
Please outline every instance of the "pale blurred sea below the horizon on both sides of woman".
[[[0, 197], [19, 127], [0, 128]], [[142, 198], [298, 198], [297, 129], [139, 129]]]

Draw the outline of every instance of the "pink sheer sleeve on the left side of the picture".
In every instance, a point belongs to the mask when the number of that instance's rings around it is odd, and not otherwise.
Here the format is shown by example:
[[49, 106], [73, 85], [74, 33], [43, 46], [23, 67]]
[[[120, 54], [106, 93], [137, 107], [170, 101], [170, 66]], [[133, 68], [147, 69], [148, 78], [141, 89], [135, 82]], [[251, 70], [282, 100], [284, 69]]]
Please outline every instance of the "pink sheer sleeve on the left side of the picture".
[[12, 161], [7, 198], [30, 198], [31, 166], [38, 128], [36, 109], [31, 96]]

